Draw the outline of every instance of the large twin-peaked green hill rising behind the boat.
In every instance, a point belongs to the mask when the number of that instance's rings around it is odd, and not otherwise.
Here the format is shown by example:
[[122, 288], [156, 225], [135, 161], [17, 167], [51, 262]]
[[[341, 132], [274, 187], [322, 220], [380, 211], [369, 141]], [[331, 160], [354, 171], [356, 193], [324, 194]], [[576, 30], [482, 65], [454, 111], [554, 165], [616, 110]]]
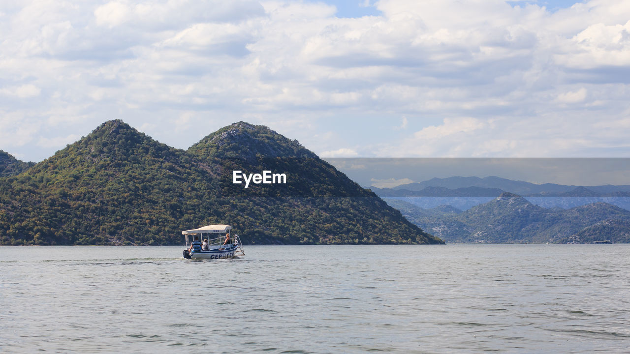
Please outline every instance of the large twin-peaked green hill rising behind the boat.
[[[232, 183], [232, 171], [285, 184]], [[294, 140], [239, 122], [188, 151], [120, 120], [0, 178], [1, 244], [181, 244], [231, 224], [245, 244], [442, 243]]]

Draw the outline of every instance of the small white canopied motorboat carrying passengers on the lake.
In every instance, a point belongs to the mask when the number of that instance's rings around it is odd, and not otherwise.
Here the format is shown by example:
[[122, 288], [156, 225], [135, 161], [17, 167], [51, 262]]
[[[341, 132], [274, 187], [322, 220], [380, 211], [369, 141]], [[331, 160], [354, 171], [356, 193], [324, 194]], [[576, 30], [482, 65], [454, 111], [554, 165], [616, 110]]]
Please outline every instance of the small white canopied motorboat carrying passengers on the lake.
[[[186, 249], [183, 251], [184, 258], [188, 260], [221, 260], [224, 258], [238, 258], [244, 256], [241, 239], [234, 234], [226, 242], [226, 234], [231, 230], [229, 225], [208, 225], [198, 229], [182, 231], [186, 236]], [[190, 239], [188, 236], [191, 236]], [[202, 249], [202, 241], [207, 240], [208, 248]], [[199, 241], [196, 248], [193, 241]]]

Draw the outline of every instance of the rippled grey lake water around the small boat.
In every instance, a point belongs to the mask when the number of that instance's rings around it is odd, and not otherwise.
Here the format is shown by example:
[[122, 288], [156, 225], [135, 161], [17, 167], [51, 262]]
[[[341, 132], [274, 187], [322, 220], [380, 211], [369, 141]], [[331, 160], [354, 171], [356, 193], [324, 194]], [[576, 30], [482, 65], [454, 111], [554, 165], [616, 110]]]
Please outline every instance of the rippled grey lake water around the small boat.
[[0, 247], [2, 353], [624, 353], [630, 245]]

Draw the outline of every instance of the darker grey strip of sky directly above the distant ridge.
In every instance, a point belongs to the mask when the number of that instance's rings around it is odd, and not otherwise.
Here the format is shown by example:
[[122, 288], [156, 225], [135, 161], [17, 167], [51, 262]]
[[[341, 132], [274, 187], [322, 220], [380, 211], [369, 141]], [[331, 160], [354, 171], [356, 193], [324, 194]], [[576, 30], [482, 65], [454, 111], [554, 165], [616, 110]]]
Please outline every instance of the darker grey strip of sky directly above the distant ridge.
[[326, 161], [365, 188], [393, 188], [452, 176], [498, 176], [570, 186], [630, 185], [630, 158], [626, 157], [331, 157]]

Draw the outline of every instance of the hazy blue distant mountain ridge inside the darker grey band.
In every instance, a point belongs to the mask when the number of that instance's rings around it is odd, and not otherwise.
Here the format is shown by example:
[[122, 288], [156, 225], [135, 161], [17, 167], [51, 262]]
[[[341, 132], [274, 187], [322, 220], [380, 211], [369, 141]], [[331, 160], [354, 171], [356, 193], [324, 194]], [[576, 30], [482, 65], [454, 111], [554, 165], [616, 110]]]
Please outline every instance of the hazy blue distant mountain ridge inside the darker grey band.
[[496, 197], [503, 191], [528, 197], [630, 197], [630, 185], [586, 187], [555, 183], [537, 185], [496, 176], [432, 178], [393, 188], [370, 189], [382, 197]]

